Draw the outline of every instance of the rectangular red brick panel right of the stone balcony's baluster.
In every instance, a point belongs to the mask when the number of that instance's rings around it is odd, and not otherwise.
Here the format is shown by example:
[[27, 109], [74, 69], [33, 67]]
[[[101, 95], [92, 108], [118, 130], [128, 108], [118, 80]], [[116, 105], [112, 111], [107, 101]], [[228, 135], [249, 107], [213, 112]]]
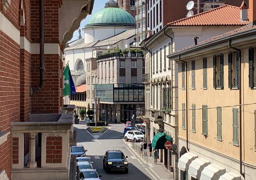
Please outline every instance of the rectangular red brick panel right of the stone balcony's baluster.
[[61, 163], [62, 137], [46, 138], [46, 163]]

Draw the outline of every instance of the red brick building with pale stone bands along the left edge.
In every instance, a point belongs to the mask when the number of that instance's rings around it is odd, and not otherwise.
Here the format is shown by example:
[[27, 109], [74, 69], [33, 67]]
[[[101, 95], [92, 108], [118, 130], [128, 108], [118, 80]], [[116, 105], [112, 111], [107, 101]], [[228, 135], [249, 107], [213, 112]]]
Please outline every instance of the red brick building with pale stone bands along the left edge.
[[[22, 176], [24, 165], [41, 167], [51, 161], [61, 167], [58, 162], [62, 160], [63, 164], [67, 158], [47, 155], [43, 162], [44, 157], [39, 155], [42, 161], [36, 159], [35, 148], [46, 132], [38, 131], [37, 126], [44, 116], [33, 120], [31, 114], [52, 117], [52, 113], [63, 110], [63, 47], [81, 20], [91, 13], [93, 3], [94, 0], [0, 0], [0, 179], [16, 179], [12, 174], [15, 168], [21, 170], [16, 172]], [[59, 122], [63, 116], [60, 114], [49, 123]], [[26, 124], [34, 129], [27, 130]], [[69, 127], [65, 128], [68, 136]], [[51, 137], [50, 132], [44, 138], [47, 143], [63, 144], [61, 137], [60, 142], [56, 141], [58, 137]], [[54, 148], [68, 152], [68, 148]]]

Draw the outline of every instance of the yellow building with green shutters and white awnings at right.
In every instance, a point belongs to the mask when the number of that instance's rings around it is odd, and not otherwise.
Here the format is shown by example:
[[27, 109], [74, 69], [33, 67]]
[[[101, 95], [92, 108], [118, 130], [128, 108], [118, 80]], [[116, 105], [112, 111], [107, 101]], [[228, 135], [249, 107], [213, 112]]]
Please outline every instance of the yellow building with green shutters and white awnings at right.
[[182, 180], [256, 180], [256, 5], [249, 13], [249, 25], [168, 56], [178, 63]]

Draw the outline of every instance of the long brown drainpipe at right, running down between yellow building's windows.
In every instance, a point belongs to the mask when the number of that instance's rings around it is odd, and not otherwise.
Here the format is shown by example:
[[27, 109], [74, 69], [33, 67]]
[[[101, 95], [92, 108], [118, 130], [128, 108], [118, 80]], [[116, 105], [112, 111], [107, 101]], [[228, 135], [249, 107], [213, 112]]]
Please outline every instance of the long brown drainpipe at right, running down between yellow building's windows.
[[238, 48], [232, 47], [231, 40], [228, 40], [228, 47], [239, 52], [239, 161], [240, 161], [240, 174], [245, 177], [242, 170], [242, 51]]

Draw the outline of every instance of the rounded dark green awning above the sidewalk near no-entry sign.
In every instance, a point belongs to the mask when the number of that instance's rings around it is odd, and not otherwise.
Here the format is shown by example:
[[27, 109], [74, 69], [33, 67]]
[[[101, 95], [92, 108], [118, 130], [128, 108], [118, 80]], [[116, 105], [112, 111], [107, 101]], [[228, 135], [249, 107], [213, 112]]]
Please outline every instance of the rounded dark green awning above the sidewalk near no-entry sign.
[[153, 137], [152, 147], [158, 150], [165, 149], [166, 141], [170, 141], [172, 143], [172, 137], [163, 132], [159, 132]]

